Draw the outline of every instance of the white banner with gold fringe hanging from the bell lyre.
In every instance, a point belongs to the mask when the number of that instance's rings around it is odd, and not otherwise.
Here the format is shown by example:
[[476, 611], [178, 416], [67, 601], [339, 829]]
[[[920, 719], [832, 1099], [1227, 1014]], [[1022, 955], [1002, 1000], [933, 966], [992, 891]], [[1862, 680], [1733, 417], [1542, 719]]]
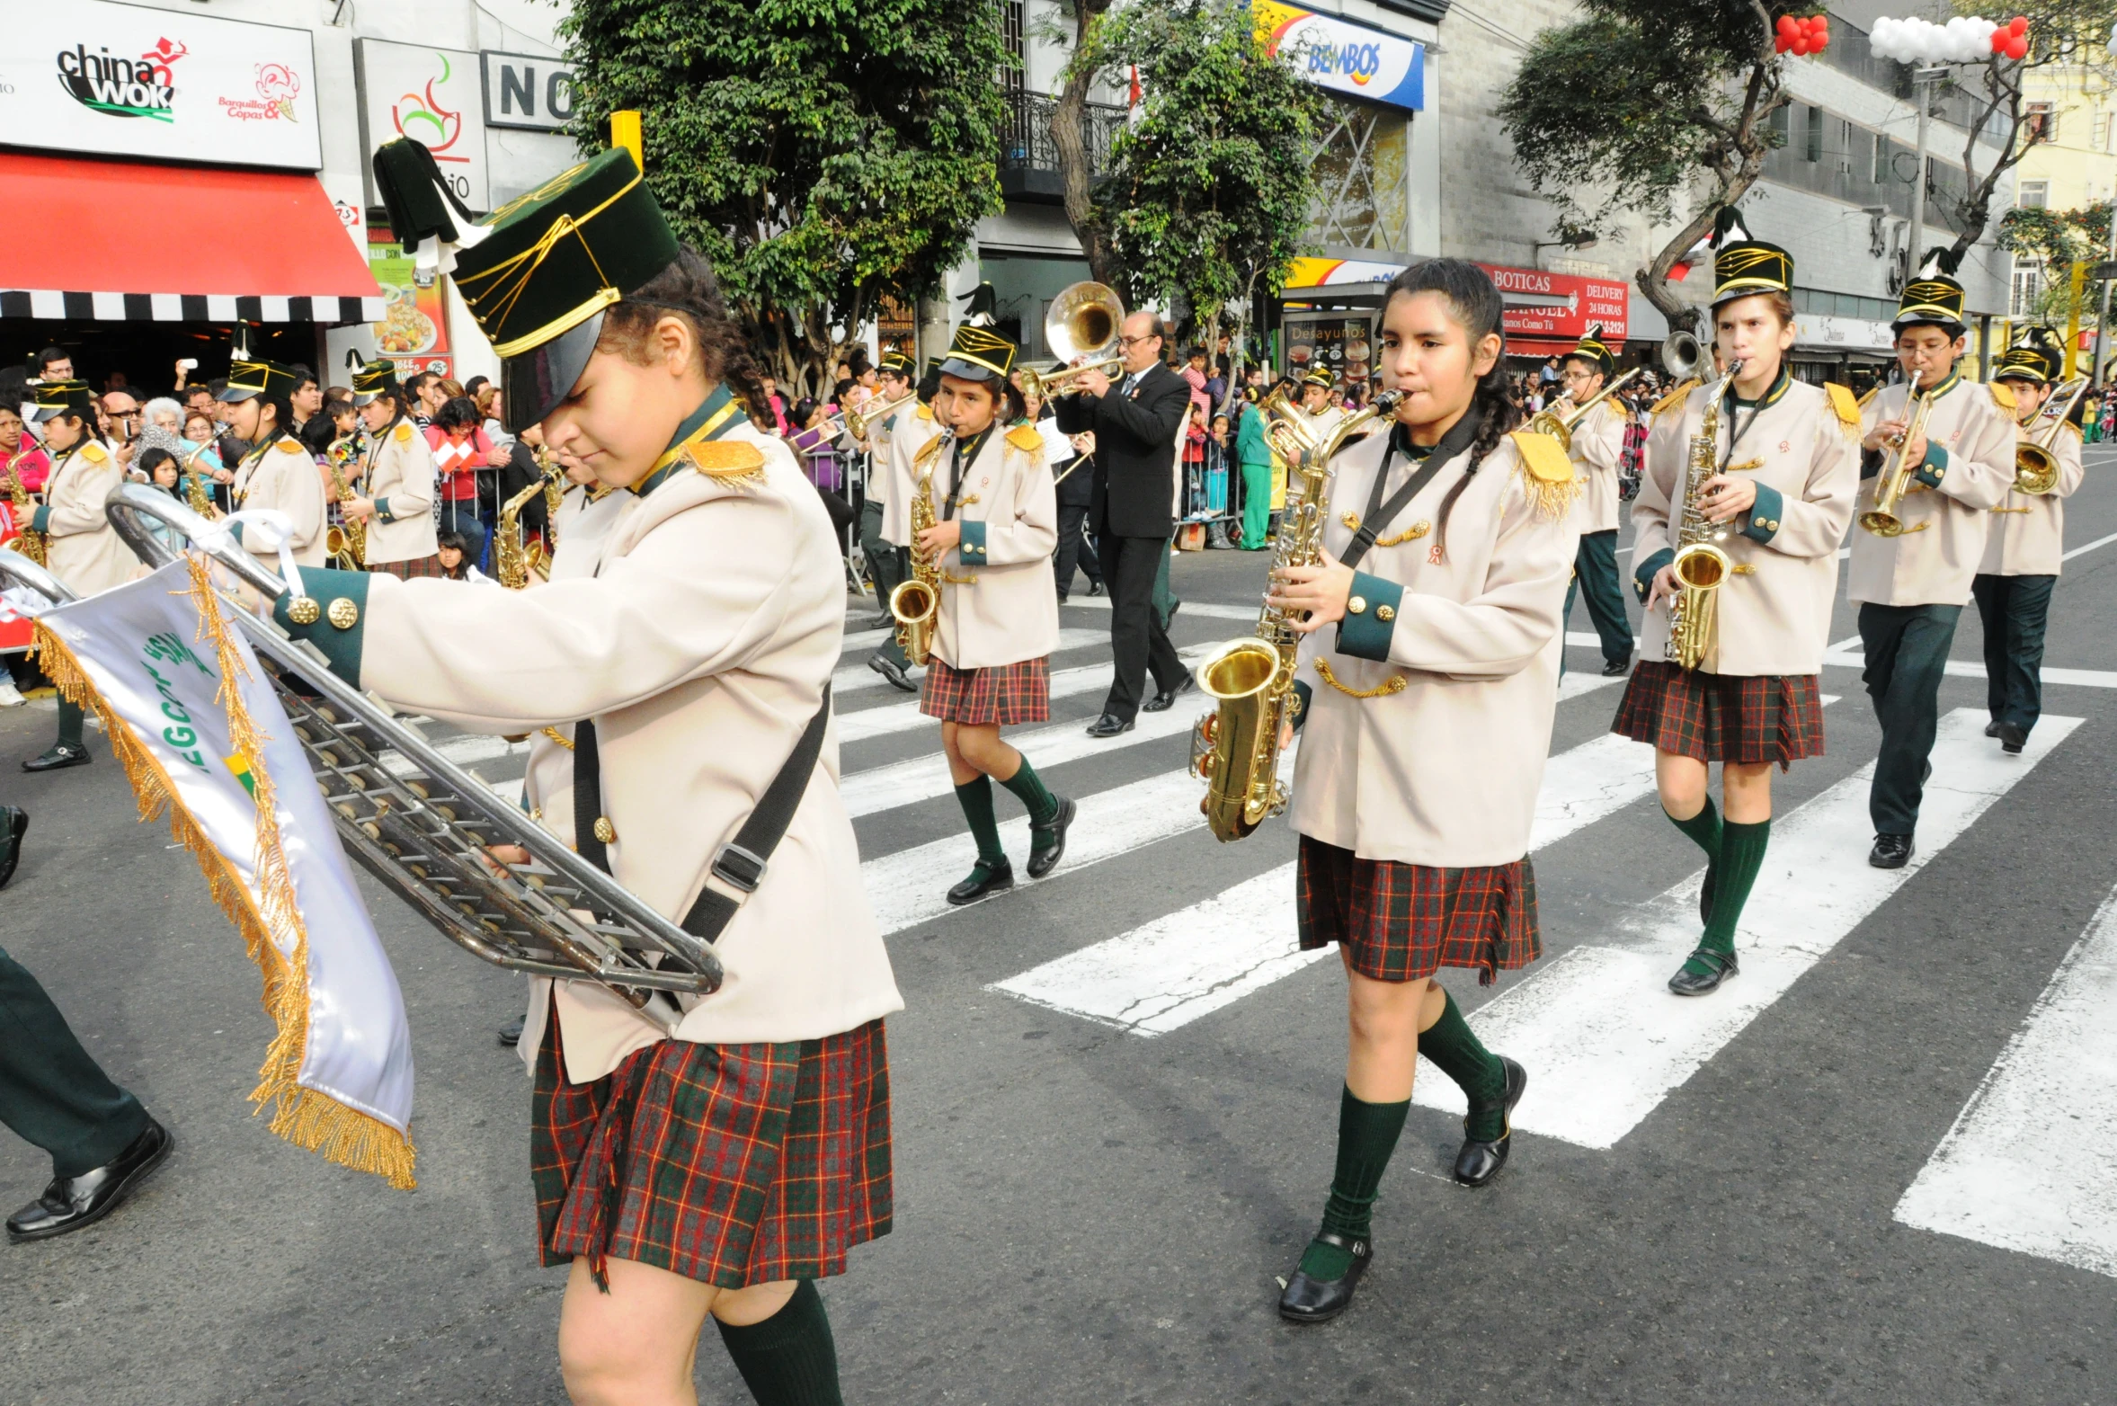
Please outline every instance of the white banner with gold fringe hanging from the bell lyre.
[[250, 642], [218, 601], [207, 620], [197, 601], [178, 561], [40, 612], [66, 650], [44, 671], [72, 697], [93, 688], [80, 701], [104, 720], [142, 813], [169, 811], [265, 974], [279, 1033], [250, 1097], [277, 1105], [273, 1133], [409, 1188], [404, 997]]

